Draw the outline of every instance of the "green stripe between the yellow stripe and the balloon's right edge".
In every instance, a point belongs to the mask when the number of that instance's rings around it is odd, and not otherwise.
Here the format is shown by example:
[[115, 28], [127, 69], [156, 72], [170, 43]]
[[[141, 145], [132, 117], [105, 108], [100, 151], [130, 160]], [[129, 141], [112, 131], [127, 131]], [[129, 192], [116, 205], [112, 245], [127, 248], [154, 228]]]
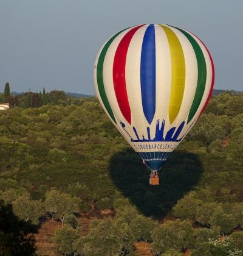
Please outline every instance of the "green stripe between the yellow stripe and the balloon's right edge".
[[[179, 28], [176, 27], [176, 29], [179, 29]], [[202, 49], [200, 48], [197, 41], [184, 30], [182, 29], [179, 29], [179, 30], [190, 41], [197, 58], [197, 71], [198, 71], [197, 88], [196, 88], [196, 93], [193, 99], [193, 104], [191, 105], [191, 109], [187, 119], [187, 123], [189, 123], [193, 118], [193, 116], [196, 114], [197, 109], [199, 108], [200, 102], [202, 101], [202, 96], [204, 96], [204, 90], [205, 90], [206, 79], [207, 79], [207, 66], [204, 58], [204, 53], [202, 52]]]

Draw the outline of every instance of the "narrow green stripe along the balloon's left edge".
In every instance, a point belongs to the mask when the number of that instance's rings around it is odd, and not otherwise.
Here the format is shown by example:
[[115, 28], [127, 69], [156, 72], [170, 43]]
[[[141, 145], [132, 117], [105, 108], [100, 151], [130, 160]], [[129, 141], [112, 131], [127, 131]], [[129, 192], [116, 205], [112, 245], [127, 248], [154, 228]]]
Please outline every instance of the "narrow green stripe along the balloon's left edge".
[[111, 105], [109, 104], [108, 98], [106, 96], [106, 91], [104, 90], [104, 81], [103, 81], [103, 65], [104, 65], [104, 57], [106, 56], [106, 52], [108, 51], [109, 46], [111, 45], [112, 41], [121, 34], [126, 29], [121, 30], [117, 34], [115, 34], [113, 37], [109, 39], [109, 41], [104, 45], [103, 49], [100, 52], [100, 56], [97, 63], [97, 84], [98, 84], [98, 90], [100, 92], [100, 97], [103, 101], [104, 107], [108, 111], [109, 115], [111, 116], [112, 120], [115, 121], [114, 113], [112, 112]]

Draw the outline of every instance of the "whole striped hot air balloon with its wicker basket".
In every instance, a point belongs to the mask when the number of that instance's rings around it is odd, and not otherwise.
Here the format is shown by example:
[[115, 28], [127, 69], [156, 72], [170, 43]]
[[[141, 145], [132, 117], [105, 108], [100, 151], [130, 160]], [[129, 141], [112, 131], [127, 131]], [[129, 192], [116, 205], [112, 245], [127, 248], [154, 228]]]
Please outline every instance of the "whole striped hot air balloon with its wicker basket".
[[213, 84], [205, 44], [188, 30], [163, 24], [117, 32], [94, 65], [100, 104], [153, 178], [204, 112]]

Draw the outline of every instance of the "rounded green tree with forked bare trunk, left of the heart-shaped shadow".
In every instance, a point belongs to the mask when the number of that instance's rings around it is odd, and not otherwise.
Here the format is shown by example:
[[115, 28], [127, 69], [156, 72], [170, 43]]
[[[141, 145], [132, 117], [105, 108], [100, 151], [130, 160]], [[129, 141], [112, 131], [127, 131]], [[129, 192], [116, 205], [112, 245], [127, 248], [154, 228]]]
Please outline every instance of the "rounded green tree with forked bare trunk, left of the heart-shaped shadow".
[[52, 216], [56, 216], [61, 221], [63, 227], [67, 215], [78, 213], [81, 200], [78, 197], [72, 197], [70, 194], [61, 193], [58, 190], [51, 190], [46, 194], [44, 207]]

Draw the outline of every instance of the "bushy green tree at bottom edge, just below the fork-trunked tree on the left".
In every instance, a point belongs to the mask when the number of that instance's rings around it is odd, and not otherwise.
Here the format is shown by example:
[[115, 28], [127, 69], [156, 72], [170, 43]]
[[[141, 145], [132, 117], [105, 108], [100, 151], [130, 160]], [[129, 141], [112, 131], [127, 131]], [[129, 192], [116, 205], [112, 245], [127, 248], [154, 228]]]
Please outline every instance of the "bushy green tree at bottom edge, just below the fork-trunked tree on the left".
[[58, 251], [62, 252], [64, 255], [74, 254], [75, 249], [75, 241], [81, 237], [80, 229], [73, 229], [69, 225], [65, 225], [61, 227], [61, 229], [56, 229], [53, 241], [55, 243]]

